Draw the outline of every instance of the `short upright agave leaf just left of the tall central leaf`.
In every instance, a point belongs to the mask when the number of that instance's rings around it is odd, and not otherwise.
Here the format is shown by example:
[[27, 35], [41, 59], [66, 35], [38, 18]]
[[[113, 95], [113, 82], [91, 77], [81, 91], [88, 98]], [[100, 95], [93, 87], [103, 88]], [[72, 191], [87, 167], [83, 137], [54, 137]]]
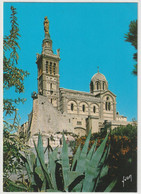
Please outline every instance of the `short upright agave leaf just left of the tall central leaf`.
[[57, 160], [57, 153], [58, 153], [58, 148], [54, 149], [54, 151], [49, 154], [49, 163], [48, 163], [48, 170], [50, 172], [51, 182], [54, 189], [57, 189], [56, 176], [55, 176], [55, 171], [56, 171], [55, 161]]

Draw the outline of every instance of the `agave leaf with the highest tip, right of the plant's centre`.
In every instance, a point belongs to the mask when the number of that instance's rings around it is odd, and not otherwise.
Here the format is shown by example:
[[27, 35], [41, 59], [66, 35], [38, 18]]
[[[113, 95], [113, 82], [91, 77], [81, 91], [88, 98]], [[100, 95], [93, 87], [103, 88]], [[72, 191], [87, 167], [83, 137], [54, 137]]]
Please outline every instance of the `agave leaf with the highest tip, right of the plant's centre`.
[[[76, 166], [76, 172], [84, 173], [86, 169], [86, 158], [87, 158], [87, 152], [88, 152], [88, 146], [89, 146], [89, 141], [91, 137], [91, 131], [89, 131], [88, 137], [85, 141], [85, 144], [83, 146], [83, 149], [80, 153], [80, 157], [77, 161], [77, 166]], [[82, 181], [74, 187], [72, 190], [73, 192], [81, 192], [82, 188]]]

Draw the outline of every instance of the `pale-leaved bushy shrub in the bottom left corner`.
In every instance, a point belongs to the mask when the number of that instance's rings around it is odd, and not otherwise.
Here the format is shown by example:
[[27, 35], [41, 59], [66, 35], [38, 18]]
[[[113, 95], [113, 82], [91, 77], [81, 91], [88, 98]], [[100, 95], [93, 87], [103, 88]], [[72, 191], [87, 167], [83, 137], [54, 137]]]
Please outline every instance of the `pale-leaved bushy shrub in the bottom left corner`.
[[[6, 127], [5, 124], [3, 131], [3, 189], [4, 191], [13, 191], [14, 182], [11, 180], [13, 174], [19, 177], [23, 177], [23, 169], [25, 164], [21, 159], [21, 152], [25, 152], [28, 147], [22, 143], [18, 135], [11, 134], [8, 130], [12, 129], [12, 126]], [[14, 126], [15, 127], [15, 126]], [[14, 191], [19, 191], [18, 188]]]

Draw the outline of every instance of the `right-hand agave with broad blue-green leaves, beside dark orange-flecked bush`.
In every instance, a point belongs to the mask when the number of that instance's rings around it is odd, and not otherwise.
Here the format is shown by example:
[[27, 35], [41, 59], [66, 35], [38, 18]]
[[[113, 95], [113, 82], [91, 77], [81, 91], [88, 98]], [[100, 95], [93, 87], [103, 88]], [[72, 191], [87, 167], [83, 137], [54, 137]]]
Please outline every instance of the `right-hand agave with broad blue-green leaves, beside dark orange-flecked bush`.
[[[63, 138], [63, 150], [62, 155], [62, 169], [64, 178], [64, 190], [71, 192], [94, 192], [105, 175], [108, 173], [108, 167], [105, 165], [107, 160], [110, 147], [106, 147], [108, 135], [96, 150], [95, 142], [88, 152], [88, 146], [90, 141], [91, 133], [85, 141], [83, 149], [81, 151], [80, 146], [78, 147], [76, 154], [73, 157], [73, 163], [69, 168], [69, 160], [67, 153], [67, 144]], [[71, 173], [75, 173], [76, 177], [71, 179]], [[74, 175], [73, 175], [74, 176]], [[71, 184], [69, 184], [71, 182]], [[105, 192], [110, 192], [114, 187], [116, 180], [114, 180], [106, 189]]]

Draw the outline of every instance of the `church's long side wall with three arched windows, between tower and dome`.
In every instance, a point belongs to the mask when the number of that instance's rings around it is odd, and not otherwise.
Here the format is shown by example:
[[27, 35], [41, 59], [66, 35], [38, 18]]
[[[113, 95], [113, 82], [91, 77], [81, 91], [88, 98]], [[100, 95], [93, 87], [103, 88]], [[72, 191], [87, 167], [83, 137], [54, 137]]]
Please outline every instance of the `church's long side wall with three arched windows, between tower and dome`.
[[[60, 110], [73, 115], [99, 116], [100, 98], [93, 94], [60, 88]], [[74, 108], [71, 109], [71, 104]], [[95, 106], [95, 110], [94, 110]], [[83, 109], [84, 107], [84, 109]]]

